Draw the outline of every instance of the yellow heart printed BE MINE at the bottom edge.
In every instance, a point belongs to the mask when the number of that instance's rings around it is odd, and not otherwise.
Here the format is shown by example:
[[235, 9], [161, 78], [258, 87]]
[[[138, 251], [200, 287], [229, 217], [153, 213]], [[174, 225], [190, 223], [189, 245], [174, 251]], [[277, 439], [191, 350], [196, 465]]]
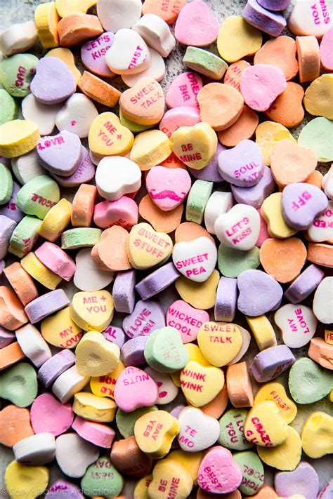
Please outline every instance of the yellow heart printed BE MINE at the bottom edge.
[[192, 486], [192, 478], [185, 467], [168, 458], [159, 461], [152, 470], [148, 495], [150, 499], [183, 499], [188, 497]]

